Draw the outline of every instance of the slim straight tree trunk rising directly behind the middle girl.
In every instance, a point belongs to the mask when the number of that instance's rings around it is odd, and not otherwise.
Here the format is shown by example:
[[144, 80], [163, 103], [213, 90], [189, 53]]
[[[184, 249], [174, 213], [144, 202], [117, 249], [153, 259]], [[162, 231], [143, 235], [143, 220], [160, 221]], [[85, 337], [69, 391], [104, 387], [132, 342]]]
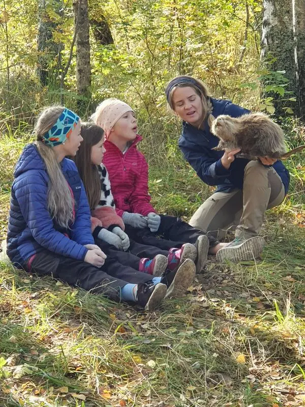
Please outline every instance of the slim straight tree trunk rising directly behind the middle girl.
[[[90, 97], [91, 67], [90, 67], [90, 37], [89, 37], [89, 16], [88, 1], [78, 0], [73, 2], [76, 34], [76, 80], [77, 93], [79, 96]], [[78, 8], [80, 8], [78, 12]], [[78, 21], [77, 21], [78, 16]], [[79, 104], [85, 105], [85, 101], [80, 99]]]

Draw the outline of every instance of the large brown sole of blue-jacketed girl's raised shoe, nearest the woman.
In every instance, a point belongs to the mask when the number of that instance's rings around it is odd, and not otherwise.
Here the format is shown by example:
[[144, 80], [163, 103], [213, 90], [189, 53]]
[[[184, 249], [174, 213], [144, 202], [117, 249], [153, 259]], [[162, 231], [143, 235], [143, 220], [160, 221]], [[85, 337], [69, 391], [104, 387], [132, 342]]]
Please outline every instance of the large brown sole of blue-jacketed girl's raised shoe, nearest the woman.
[[195, 263], [193, 260], [187, 258], [181, 266], [179, 266], [171, 285], [167, 289], [165, 298], [181, 298], [185, 294], [186, 289], [192, 284], [195, 274]]

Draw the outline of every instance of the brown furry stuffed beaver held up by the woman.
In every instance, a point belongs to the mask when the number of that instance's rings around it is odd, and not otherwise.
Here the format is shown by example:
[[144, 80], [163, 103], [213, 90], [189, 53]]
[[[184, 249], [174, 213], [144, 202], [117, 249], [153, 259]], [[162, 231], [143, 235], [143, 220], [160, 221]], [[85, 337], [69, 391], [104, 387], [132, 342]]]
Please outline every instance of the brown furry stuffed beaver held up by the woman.
[[248, 113], [239, 118], [221, 114], [217, 119], [210, 114], [208, 122], [211, 132], [220, 139], [212, 150], [240, 148], [241, 155], [247, 158], [283, 160], [305, 148], [300, 146], [287, 153], [283, 130], [264, 113]]

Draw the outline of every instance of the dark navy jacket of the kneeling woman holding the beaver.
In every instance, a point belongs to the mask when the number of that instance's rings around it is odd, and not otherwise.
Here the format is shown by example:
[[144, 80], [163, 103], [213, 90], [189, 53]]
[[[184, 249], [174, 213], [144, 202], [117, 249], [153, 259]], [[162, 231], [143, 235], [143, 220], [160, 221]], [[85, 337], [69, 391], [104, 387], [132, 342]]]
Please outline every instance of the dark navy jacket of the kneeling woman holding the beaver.
[[[249, 113], [247, 109], [234, 105], [230, 100], [210, 98], [213, 105], [212, 114], [217, 118], [220, 114], [228, 114], [238, 118], [242, 114]], [[211, 150], [219, 142], [214, 134], [209, 131], [207, 121], [204, 129], [183, 122], [182, 134], [179, 138], [179, 148], [184, 158], [197, 172], [198, 177], [208, 185], [217, 185], [217, 191], [229, 192], [234, 188], [242, 189], [243, 173], [249, 160], [236, 158], [227, 170], [221, 163], [222, 151]], [[272, 167], [282, 179], [285, 194], [289, 187], [289, 172], [282, 163], [277, 161]]]

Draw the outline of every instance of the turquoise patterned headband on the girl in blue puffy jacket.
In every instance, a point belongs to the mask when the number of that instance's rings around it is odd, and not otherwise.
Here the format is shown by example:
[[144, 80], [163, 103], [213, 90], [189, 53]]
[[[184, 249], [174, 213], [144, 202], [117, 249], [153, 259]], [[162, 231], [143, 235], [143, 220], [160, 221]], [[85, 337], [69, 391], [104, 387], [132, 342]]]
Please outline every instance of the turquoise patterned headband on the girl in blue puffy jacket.
[[78, 121], [78, 115], [65, 107], [54, 126], [42, 136], [43, 143], [50, 147], [63, 144], [70, 137]]

